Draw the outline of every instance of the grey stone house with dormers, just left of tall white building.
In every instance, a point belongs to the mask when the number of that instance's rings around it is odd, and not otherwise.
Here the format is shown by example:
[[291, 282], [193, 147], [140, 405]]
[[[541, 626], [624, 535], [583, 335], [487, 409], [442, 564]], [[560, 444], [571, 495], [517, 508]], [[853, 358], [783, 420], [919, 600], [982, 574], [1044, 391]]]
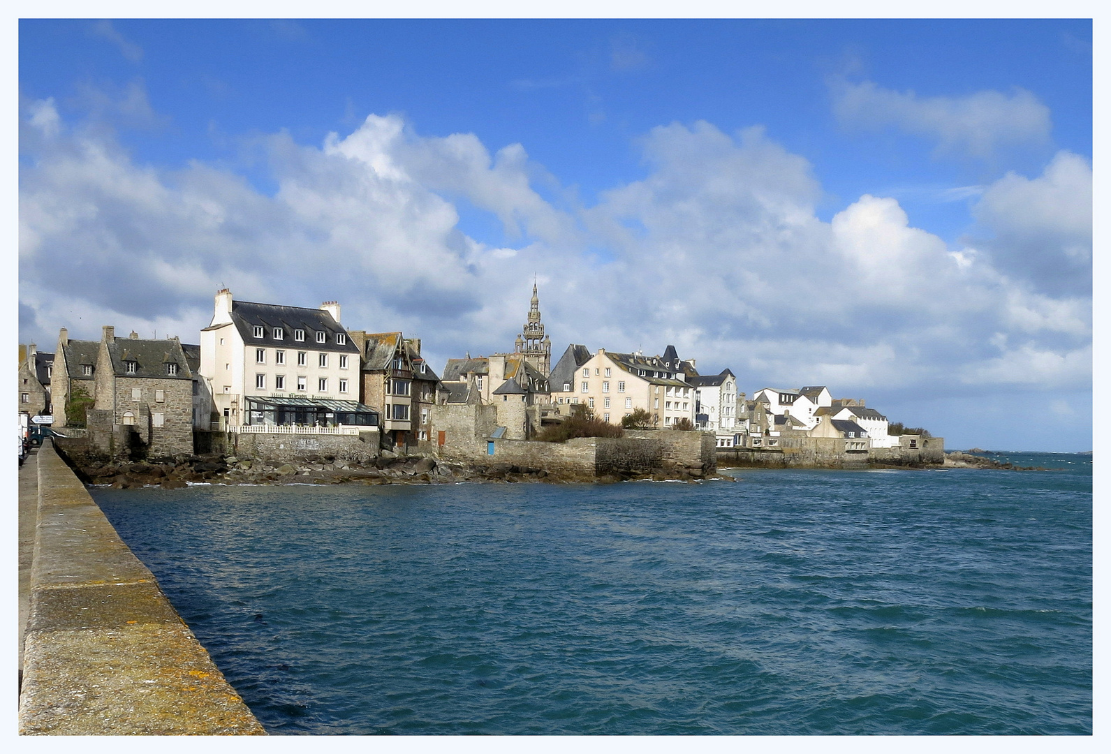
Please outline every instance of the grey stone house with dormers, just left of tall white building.
[[93, 370], [90, 442], [100, 450], [161, 458], [193, 451], [192, 373], [177, 338], [117, 338], [106, 325]]

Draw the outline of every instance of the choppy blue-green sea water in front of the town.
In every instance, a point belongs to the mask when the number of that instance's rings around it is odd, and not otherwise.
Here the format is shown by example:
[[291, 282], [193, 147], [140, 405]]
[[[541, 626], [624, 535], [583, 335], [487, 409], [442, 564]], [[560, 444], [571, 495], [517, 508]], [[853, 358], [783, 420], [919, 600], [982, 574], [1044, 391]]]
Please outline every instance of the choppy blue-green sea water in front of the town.
[[1091, 456], [1009, 460], [93, 495], [271, 733], [1090, 734]]

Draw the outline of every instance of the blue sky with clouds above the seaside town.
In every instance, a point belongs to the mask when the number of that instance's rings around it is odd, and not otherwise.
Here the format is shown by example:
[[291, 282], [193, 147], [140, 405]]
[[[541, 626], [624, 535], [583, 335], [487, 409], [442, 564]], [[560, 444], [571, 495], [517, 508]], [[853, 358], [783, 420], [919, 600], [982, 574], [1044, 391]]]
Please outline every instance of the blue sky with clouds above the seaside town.
[[1092, 448], [1090, 20], [21, 20], [19, 338], [342, 305]]

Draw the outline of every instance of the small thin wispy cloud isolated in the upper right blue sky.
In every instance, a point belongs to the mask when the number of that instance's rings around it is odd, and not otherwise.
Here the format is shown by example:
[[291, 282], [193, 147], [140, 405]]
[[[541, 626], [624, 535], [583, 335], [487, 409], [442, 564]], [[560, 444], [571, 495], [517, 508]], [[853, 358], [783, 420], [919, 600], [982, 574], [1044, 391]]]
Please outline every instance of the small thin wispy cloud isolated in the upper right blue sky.
[[872, 81], [831, 84], [833, 112], [847, 125], [895, 127], [931, 139], [942, 153], [990, 158], [1003, 148], [1049, 143], [1050, 111], [1024, 89], [964, 97], [919, 97]]

